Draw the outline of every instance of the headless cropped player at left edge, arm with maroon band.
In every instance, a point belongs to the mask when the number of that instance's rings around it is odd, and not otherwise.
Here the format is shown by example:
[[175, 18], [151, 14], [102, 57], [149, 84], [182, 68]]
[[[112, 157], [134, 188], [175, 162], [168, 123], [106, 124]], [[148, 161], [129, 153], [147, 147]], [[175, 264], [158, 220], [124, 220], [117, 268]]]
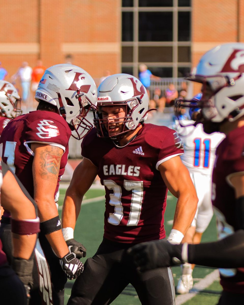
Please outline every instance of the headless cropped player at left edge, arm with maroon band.
[[9, 167], [5, 163], [1, 163], [1, 158], [0, 187], [1, 205], [9, 210], [12, 216], [13, 242], [12, 269], [2, 250], [0, 239], [1, 303], [26, 305], [32, 283], [33, 250], [37, 233], [40, 231], [37, 206], [18, 178], [9, 170]]

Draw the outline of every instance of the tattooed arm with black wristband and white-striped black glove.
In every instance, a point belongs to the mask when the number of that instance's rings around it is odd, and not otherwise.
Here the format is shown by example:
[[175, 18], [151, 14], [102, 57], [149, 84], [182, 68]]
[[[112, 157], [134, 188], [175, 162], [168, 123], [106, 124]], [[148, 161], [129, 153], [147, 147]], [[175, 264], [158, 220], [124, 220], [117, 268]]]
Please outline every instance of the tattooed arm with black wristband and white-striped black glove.
[[60, 265], [67, 277], [69, 279], [77, 278], [84, 266], [68, 249], [54, 201], [63, 149], [52, 145], [32, 143], [31, 150], [34, 152], [32, 164], [34, 200], [38, 206], [40, 229], [59, 257]]

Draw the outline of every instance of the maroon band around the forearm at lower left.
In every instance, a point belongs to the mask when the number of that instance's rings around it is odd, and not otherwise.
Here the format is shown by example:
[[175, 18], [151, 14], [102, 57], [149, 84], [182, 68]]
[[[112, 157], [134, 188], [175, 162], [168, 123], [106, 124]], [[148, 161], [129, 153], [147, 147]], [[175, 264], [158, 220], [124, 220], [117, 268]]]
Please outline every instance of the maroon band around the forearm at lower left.
[[31, 235], [40, 232], [40, 219], [16, 220], [11, 218], [11, 231], [19, 235]]

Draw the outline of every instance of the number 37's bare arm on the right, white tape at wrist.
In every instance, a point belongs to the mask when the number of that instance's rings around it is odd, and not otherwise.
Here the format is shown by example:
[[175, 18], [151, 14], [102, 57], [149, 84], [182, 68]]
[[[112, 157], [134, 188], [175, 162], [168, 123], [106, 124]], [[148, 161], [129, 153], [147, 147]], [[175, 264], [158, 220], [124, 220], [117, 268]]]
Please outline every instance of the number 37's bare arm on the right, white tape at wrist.
[[175, 156], [158, 167], [170, 192], [178, 198], [174, 222], [169, 240], [180, 243], [196, 213], [198, 198], [188, 169], [179, 156]]

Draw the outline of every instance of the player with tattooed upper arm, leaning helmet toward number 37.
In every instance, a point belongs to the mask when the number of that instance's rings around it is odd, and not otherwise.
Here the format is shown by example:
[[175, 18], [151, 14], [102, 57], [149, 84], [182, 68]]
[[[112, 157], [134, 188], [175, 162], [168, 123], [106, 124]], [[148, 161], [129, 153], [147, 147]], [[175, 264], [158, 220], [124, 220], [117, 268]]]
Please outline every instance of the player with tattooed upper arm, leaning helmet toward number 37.
[[[56, 202], [71, 131], [81, 139], [91, 130], [86, 115], [95, 107], [96, 98], [95, 82], [85, 70], [70, 64], [52, 66], [36, 90], [37, 110], [11, 120], [0, 138], [2, 159], [34, 198], [41, 221], [30, 304], [41, 304], [43, 300], [46, 304], [63, 304], [66, 277], [76, 278], [83, 270], [78, 258], [85, 256], [86, 249], [74, 240], [66, 243]], [[0, 233], [11, 261], [9, 216], [5, 211]]]

